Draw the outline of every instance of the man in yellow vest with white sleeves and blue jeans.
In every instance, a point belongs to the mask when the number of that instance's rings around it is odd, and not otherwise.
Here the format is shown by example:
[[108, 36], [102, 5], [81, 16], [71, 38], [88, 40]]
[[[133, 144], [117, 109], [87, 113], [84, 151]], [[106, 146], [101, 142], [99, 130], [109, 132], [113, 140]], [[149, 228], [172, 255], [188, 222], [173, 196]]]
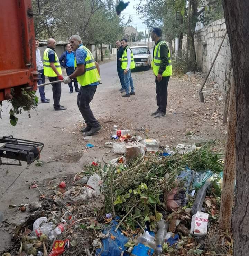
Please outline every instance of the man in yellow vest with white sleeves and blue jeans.
[[[130, 97], [130, 95], [135, 95], [134, 92], [134, 85], [133, 85], [133, 79], [131, 77], [131, 69], [135, 68], [135, 62], [133, 58], [133, 53], [128, 46], [127, 39], [122, 38], [121, 39], [121, 45], [124, 49], [121, 61], [122, 61], [122, 69], [124, 73], [124, 82], [126, 85], [126, 94], [122, 95], [122, 97]], [[131, 88], [131, 92], [130, 92]]]

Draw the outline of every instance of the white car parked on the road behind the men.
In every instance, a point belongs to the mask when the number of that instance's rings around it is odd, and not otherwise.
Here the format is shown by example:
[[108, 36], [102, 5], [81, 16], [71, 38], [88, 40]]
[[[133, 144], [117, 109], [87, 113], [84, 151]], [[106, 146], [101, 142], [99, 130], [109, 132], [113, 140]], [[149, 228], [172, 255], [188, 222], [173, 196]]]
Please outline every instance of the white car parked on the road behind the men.
[[151, 68], [151, 54], [147, 46], [131, 46], [135, 66], [145, 67], [146, 70]]

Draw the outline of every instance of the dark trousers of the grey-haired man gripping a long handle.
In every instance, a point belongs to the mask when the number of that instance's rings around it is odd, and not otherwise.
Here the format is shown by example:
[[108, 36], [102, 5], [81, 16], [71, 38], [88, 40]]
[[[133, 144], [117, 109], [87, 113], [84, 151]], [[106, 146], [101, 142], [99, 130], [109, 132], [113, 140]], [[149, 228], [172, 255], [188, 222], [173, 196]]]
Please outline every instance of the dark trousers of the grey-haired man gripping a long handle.
[[96, 89], [97, 85], [80, 86], [78, 94], [78, 108], [85, 120], [85, 123], [90, 127], [98, 127], [100, 125], [96, 118], [93, 116], [92, 110], [89, 106], [89, 103], [92, 101]]

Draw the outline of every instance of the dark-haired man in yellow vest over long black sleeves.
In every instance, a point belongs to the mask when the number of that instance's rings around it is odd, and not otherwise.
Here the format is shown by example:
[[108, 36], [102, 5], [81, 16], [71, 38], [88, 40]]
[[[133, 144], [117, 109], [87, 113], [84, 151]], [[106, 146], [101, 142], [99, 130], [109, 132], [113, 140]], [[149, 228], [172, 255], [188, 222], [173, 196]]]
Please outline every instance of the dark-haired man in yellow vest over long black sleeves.
[[156, 100], [158, 109], [152, 113], [155, 118], [166, 116], [168, 82], [172, 75], [170, 51], [165, 41], [162, 40], [162, 30], [153, 28], [151, 39], [155, 42], [153, 49], [152, 68], [156, 77]]

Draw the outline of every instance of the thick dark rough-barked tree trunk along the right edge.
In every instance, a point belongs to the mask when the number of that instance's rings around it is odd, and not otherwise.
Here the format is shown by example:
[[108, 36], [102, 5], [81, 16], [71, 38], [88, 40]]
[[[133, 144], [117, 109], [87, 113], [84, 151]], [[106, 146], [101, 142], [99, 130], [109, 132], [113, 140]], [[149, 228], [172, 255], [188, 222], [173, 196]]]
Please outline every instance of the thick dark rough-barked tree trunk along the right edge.
[[234, 256], [249, 251], [249, 10], [248, 0], [222, 0], [236, 83], [236, 196], [233, 222]]

